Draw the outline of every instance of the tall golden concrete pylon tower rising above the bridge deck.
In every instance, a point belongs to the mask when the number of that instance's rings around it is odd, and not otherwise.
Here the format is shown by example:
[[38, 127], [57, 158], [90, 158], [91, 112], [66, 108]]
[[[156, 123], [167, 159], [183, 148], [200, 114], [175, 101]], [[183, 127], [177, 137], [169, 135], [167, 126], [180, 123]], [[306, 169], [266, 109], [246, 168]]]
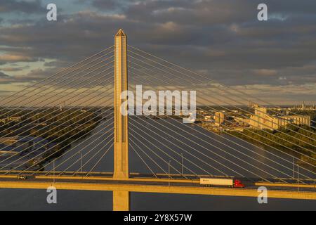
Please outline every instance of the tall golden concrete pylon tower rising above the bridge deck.
[[127, 37], [120, 29], [114, 46], [114, 179], [129, 178], [129, 122], [121, 113], [126, 102], [121, 99], [122, 91], [127, 91]]

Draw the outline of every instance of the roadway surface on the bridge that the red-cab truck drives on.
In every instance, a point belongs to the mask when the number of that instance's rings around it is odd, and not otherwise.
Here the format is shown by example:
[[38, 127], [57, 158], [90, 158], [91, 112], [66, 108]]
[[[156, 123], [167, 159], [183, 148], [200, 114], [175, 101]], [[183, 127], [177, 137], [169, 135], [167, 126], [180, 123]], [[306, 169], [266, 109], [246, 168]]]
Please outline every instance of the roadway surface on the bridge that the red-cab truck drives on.
[[[55, 176], [53, 174], [48, 174], [48, 176], [44, 176], [46, 172], [40, 172], [39, 174], [30, 175], [32, 172], [26, 172], [24, 173], [25, 176], [27, 176], [27, 179], [20, 180], [17, 179], [17, 174], [19, 172], [15, 172], [16, 175], [10, 174], [10, 175], [3, 175], [0, 173], [0, 182], [3, 181], [11, 181], [11, 182], [25, 182], [25, 183], [32, 183], [32, 182], [44, 182], [44, 183], [64, 183], [64, 184], [70, 184], [70, 183], [77, 183], [77, 184], [126, 184], [126, 185], [148, 185], [148, 186], [185, 186], [185, 187], [203, 187], [199, 184], [199, 179], [196, 179], [196, 177], [191, 177], [191, 179], [180, 179], [180, 177], [176, 177], [176, 174], [171, 174], [173, 179], [168, 179], [168, 175], [166, 174], [157, 174], [158, 178], [155, 178], [152, 175], [147, 174], [131, 174], [130, 179], [128, 180], [115, 180], [112, 178], [112, 173], [95, 173], [92, 174], [92, 176], [71, 176], [71, 172], [68, 172], [66, 174], [63, 174], [62, 176], [58, 176], [58, 172], [56, 172]], [[216, 178], [223, 178], [218, 177]], [[277, 181], [278, 179], [276, 179]], [[295, 183], [294, 179], [287, 179], [285, 180], [287, 184], [282, 183], [266, 183], [260, 180], [242, 180], [242, 183], [245, 184], [244, 189], [251, 189], [251, 190], [257, 190], [258, 186], [266, 186], [268, 190], [270, 191], [300, 191], [300, 192], [313, 192], [316, 193], [316, 181], [315, 180], [303, 180], [300, 181], [300, 183]], [[304, 183], [304, 184], [303, 184]], [[287, 185], [287, 186], [286, 186]], [[228, 189], [228, 187], [220, 187], [220, 186], [212, 186], [207, 188], [223, 188]], [[232, 188], [237, 189], [237, 188]]]

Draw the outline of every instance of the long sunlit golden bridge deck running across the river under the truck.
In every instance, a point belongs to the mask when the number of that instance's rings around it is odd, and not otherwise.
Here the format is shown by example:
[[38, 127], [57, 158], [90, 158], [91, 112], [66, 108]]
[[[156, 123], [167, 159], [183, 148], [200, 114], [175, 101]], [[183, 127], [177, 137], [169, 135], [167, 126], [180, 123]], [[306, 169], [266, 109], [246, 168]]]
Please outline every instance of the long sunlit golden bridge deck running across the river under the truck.
[[247, 188], [223, 188], [200, 186], [197, 179], [152, 179], [131, 178], [115, 180], [110, 176], [34, 176], [25, 181], [18, 181], [16, 176], [2, 175], [0, 188], [27, 188], [46, 189], [55, 186], [60, 190], [83, 190], [83, 191], [129, 191], [140, 193], [175, 193], [192, 195], [223, 195], [258, 197], [258, 186], [270, 186], [269, 198], [289, 198], [302, 200], [316, 200], [315, 185], [305, 186], [300, 184], [301, 190], [297, 190], [296, 184], [265, 184], [254, 183]]

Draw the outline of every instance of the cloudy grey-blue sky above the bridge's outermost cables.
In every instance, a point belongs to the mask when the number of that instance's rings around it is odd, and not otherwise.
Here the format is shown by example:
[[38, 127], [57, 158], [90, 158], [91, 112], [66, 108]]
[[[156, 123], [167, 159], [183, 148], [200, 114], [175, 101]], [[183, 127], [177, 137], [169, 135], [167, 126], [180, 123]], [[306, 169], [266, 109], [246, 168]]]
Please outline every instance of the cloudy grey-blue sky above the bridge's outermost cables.
[[[46, 5], [58, 21], [46, 20]], [[257, 6], [268, 5], [268, 21]], [[316, 103], [315, 0], [0, 0], [0, 89], [129, 44], [273, 103]]]

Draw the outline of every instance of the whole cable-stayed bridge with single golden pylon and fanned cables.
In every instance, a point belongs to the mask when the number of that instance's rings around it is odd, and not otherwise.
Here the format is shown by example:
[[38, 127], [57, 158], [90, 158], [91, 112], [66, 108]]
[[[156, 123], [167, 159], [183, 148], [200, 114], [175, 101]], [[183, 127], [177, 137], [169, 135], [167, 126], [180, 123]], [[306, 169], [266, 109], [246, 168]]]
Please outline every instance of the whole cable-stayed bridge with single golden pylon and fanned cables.
[[[197, 121], [183, 123], [173, 106], [164, 116], [121, 115], [121, 92], [140, 84], [196, 90]], [[270, 105], [273, 117], [249, 101]], [[129, 210], [130, 192], [257, 197], [266, 186], [270, 198], [316, 200], [315, 121], [301, 126], [285, 119], [296, 112], [129, 46], [122, 30], [114, 46], [0, 104], [0, 188], [113, 191], [114, 210]], [[217, 125], [204, 120], [213, 115]], [[254, 124], [264, 129], [247, 129]], [[245, 188], [206, 187], [201, 178]]]

